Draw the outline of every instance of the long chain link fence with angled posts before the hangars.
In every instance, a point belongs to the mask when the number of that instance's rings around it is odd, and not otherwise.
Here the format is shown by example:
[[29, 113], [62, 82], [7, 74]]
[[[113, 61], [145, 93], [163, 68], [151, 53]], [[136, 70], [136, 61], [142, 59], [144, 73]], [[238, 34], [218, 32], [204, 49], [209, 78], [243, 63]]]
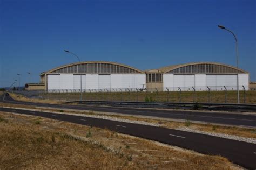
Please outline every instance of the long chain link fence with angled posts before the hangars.
[[[80, 89], [13, 91], [30, 98], [79, 101]], [[256, 90], [239, 87], [240, 103], [256, 103]], [[236, 86], [83, 89], [83, 101], [237, 103]]]

